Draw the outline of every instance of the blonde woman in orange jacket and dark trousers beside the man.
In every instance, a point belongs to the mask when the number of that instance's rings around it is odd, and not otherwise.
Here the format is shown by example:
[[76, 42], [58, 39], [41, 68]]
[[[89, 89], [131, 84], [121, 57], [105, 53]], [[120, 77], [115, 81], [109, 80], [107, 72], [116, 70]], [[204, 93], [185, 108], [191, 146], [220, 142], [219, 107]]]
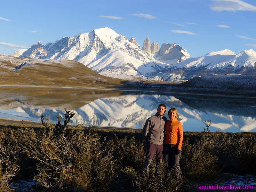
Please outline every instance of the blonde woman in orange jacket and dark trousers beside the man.
[[174, 170], [176, 177], [181, 178], [180, 154], [183, 141], [183, 129], [180, 121], [177, 120], [179, 113], [176, 108], [168, 111], [170, 120], [165, 126], [164, 160], [166, 163], [166, 174]]

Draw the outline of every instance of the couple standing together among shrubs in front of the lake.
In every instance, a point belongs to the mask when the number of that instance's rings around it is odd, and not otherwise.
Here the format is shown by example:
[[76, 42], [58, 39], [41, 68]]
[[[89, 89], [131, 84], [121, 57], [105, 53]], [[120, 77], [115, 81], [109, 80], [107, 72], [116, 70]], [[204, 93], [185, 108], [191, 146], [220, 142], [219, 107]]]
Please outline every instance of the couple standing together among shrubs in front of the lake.
[[146, 160], [143, 167], [143, 173], [149, 174], [150, 163], [156, 154], [156, 173], [165, 161], [165, 172], [168, 174], [173, 169], [176, 177], [181, 178], [180, 154], [183, 141], [183, 129], [178, 118], [178, 111], [171, 108], [168, 111], [170, 120], [164, 117], [166, 106], [160, 104], [157, 113], [149, 117], [143, 127], [142, 134], [147, 143]]

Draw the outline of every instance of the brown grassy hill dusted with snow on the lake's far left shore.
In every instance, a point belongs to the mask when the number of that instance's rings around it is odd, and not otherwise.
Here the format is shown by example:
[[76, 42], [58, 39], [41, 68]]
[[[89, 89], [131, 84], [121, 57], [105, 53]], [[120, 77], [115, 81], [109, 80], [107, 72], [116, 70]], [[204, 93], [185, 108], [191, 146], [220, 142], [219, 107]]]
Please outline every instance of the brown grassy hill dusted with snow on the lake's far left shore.
[[101, 76], [72, 60], [19, 59], [0, 55], [0, 84], [65, 87], [122, 86], [123, 80]]

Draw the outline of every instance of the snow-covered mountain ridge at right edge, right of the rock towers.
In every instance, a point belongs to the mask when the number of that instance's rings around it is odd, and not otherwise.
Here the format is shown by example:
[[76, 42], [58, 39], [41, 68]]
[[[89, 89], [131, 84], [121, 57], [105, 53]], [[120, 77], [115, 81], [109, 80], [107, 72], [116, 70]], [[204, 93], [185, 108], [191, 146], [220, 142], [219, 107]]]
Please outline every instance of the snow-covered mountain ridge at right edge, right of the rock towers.
[[210, 52], [198, 58], [188, 58], [160, 72], [152, 72], [141, 77], [174, 81], [191, 79], [202, 75], [216, 74], [256, 74], [256, 52], [252, 49], [238, 54], [225, 49]]

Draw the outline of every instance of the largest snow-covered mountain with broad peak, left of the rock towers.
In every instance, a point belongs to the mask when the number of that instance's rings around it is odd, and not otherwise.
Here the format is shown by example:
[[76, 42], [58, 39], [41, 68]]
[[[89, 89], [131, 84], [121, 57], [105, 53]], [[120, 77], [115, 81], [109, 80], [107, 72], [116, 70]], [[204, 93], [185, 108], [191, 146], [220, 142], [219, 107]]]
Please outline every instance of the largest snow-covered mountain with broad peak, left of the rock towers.
[[169, 67], [108, 27], [70, 38], [63, 37], [46, 45], [39, 41], [19, 58], [24, 57], [75, 60], [98, 73], [108, 71], [126, 75], [140, 75]]

